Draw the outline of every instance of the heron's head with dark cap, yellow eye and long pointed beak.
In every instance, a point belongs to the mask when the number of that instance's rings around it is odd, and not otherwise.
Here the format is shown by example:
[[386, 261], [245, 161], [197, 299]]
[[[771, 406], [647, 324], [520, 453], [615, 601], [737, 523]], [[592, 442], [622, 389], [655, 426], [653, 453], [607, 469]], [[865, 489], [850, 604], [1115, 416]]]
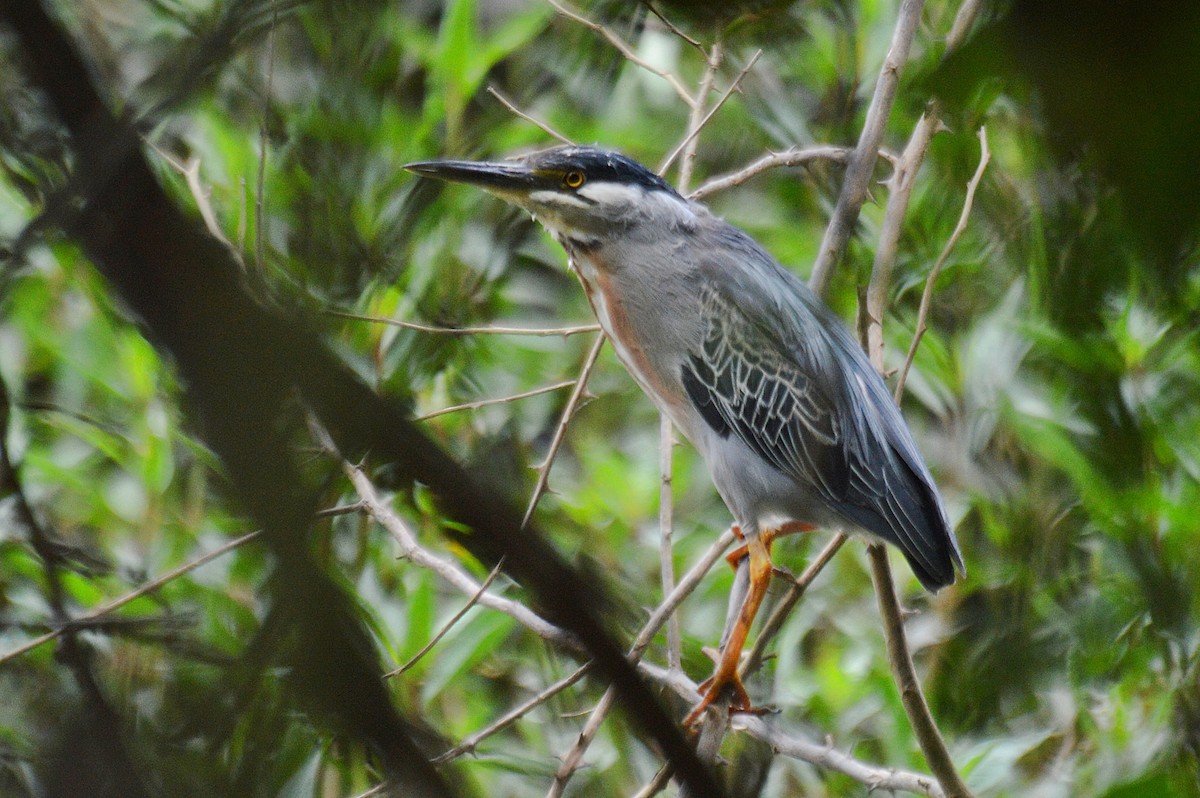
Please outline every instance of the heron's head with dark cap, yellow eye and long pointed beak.
[[518, 205], [563, 244], [595, 245], [642, 224], [686, 223], [688, 200], [619, 152], [558, 146], [512, 161], [421, 161], [409, 172], [464, 182]]

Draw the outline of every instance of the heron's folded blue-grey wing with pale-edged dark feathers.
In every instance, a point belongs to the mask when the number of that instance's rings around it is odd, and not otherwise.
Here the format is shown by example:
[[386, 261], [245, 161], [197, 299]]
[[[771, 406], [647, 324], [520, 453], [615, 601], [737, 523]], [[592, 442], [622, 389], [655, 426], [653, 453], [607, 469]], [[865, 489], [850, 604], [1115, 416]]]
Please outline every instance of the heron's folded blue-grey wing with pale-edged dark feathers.
[[[961, 554], [886, 386], [841, 320], [761, 254], [757, 265], [778, 269], [794, 293], [767, 294], [755, 269], [703, 280], [704, 337], [683, 364], [684, 390], [718, 434], [736, 436], [830, 509], [899, 546], [926, 587], [949, 584]], [[758, 304], [758, 318], [727, 294], [739, 290]]]

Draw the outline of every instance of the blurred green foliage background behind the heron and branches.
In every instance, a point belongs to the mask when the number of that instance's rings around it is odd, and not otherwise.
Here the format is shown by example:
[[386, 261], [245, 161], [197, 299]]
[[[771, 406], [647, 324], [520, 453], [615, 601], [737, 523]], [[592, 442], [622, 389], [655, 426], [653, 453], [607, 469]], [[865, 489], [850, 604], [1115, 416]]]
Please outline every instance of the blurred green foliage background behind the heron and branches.
[[[422, 415], [558, 385], [422, 424], [523, 508], [594, 332], [445, 334], [347, 314], [438, 329], [590, 324], [565, 257], [526, 215], [401, 167], [553, 143], [492, 88], [575, 142], [654, 168], [688, 132], [691, 109], [672, 85], [544, 0], [46, 5], [109, 107], [138, 126], [175, 202], [197, 226], [220, 230], [264, 302], [310, 317], [379, 392]], [[959, 221], [980, 127], [991, 150], [965, 233], [934, 284], [904, 401], [967, 576], [930, 596], [899, 560], [894, 571], [905, 606], [919, 613], [908, 635], [934, 716], [977, 794], [1196, 796], [1200, 7], [1042, 5], [985, 4], [948, 52], [959, 5], [926, 2], [887, 122], [889, 155], [904, 150], [923, 113], [944, 128], [904, 216], [883, 323], [892, 368], [904, 364], [925, 280]], [[697, 137], [695, 188], [768, 152], [853, 146], [899, 6], [744, 0], [720, 11], [686, 2], [578, 11], [691, 92], [719, 42], [709, 102], [762, 50]], [[254, 528], [187, 421], [170, 360], [77, 245], [38, 227], [61, 210], [72, 158], [31, 86], [16, 37], [0, 28], [4, 796], [68, 794], [55, 792], [54, 773], [79, 750], [82, 728], [82, 688], [58, 641], [7, 655], [59, 622], [17, 494], [54, 530], [73, 614]], [[808, 277], [842, 173], [817, 158], [704, 202]], [[890, 176], [881, 158], [833, 278], [829, 301], [848, 324], [871, 275]], [[325, 506], [358, 500], [336, 461], [299, 451]], [[630, 635], [662, 598], [658, 414], [606, 349], [534, 518], [622, 596], [616, 623]], [[444, 520], [427, 491], [388, 469], [374, 478], [424, 548], [486, 577], [439, 534]], [[730, 517], [686, 444], [674, 449], [672, 490], [683, 571]], [[830, 535], [787, 539], [775, 559], [799, 572]], [[397, 559], [392, 539], [361, 514], [322, 521], [313, 546], [356, 596], [388, 670], [469, 598]], [[73, 636], [152, 794], [350, 797], [382, 780], [360, 744], [289, 696], [272, 655], [286, 643], [264, 628], [271, 570], [250, 540]], [[715, 568], [679, 612], [694, 679], [710, 668], [701, 648], [718, 642], [731, 583], [732, 571]], [[503, 576], [493, 589], [527, 599]], [[780, 722], [864, 761], [928, 772], [888, 670], [860, 541], [817, 577], [769, 653], [749, 686], [780, 708]], [[647, 656], [665, 661], [661, 637]], [[386, 684], [432, 756], [577, 666], [511, 617], [474, 607]], [[445, 772], [463, 794], [542, 793], [601, 691], [578, 683]], [[868, 790], [738, 734], [725, 755], [731, 794]], [[586, 762], [568, 794], [634, 794], [659, 766], [619, 714]]]

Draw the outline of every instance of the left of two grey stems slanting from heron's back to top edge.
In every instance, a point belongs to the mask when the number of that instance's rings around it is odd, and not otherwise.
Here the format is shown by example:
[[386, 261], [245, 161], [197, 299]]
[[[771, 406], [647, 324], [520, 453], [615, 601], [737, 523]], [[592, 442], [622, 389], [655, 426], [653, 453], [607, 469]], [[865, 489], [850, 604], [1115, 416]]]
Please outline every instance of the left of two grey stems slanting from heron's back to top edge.
[[916, 36], [920, 24], [920, 12], [924, 5], [924, 0], [904, 0], [900, 4], [900, 14], [892, 34], [892, 44], [883, 59], [878, 80], [875, 83], [875, 95], [871, 97], [871, 104], [866, 109], [866, 120], [858, 137], [858, 145], [846, 166], [846, 175], [842, 179], [841, 192], [838, 194], [838, 204], [834, 206], [833, 216], [826, 227], [821, 250], [817, 252], [817, 259], [812, 266], [812, 276], [809, 278], [809, 284], [818, 296], [824, 296], [826, 290], [828, 290], [833, 270], [846, 252], [850, 238], [854, 232], [854, 224], [858, 222], [858, 212], [866, 200], [880, 143], [883, 140], [883, 131], [887, 127], [888, 115], [892, 113], [896, 89], [900, 85], [900, 71], [908, 60], [908, 48], [912, 46], [913, 36]]

